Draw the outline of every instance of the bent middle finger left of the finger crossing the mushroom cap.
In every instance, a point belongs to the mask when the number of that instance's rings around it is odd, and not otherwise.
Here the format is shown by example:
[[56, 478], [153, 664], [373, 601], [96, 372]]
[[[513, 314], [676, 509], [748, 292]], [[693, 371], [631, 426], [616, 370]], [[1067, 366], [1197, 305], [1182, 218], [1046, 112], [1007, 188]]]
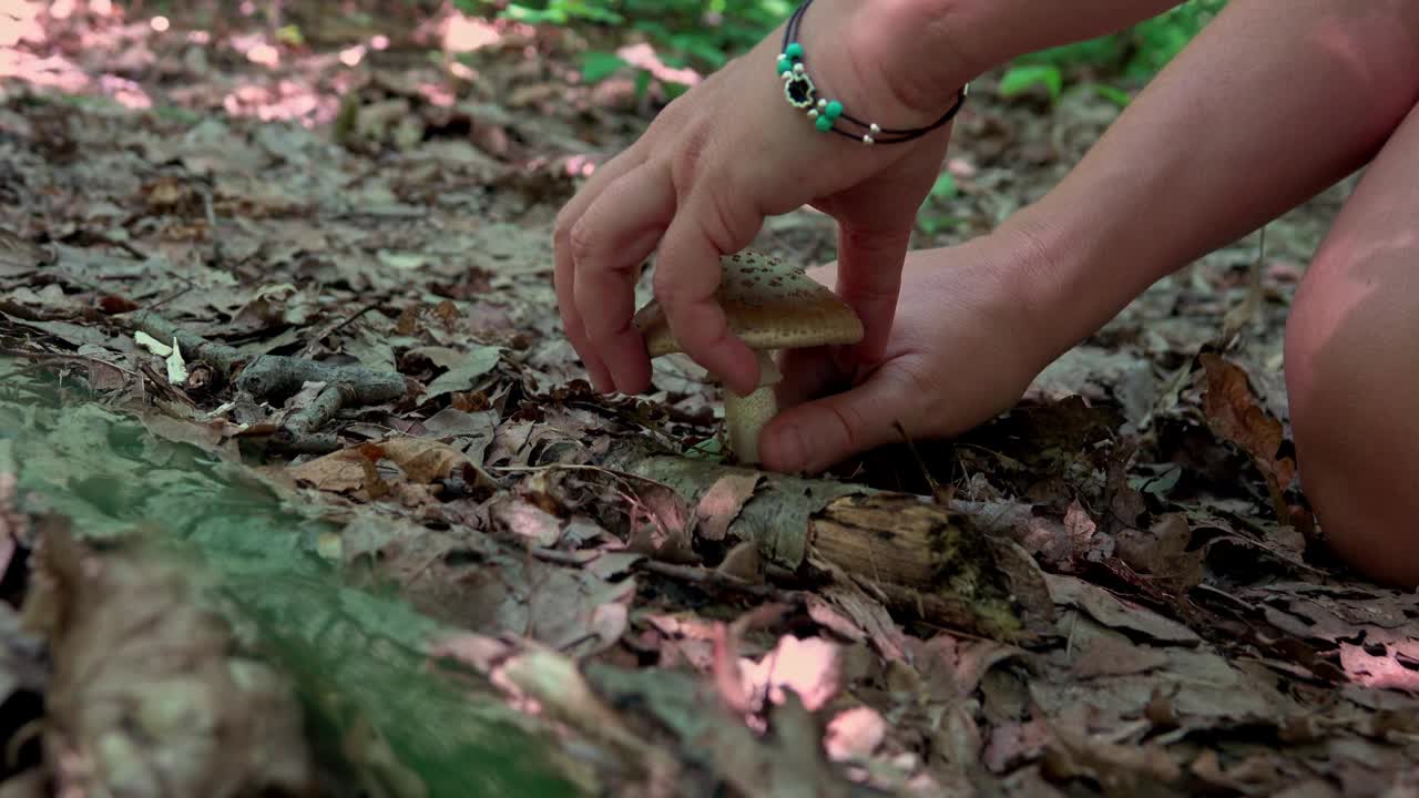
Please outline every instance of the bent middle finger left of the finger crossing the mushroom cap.
[[647, 165], [609, 185], [572, 227], [576, 312], [587, 344], [622, 393], [650, 386], [646, 344], [631, 324], [636, 280], [674, 212], [668, 172]]

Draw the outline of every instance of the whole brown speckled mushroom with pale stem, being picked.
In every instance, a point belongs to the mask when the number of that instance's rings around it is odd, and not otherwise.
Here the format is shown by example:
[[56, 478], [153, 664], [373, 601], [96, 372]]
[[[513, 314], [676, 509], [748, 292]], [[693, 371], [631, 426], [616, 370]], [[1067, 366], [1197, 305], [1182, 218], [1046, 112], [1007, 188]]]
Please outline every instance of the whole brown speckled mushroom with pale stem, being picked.
[[[759, 386], [748, 396], [725, 392], [729, 449], [742, 463], [759, 461], [759, 430], [778, 413], [773, 386], [782, 375], [778, 349], [857, 344], [863, 322], [846, 302], [783, 258], [744, 251], [721, 258], [717, 298], [729, 331], [759, 355]], [[660, 302], [636, 314], [636, 327], [651, 358], [683, 352]]]

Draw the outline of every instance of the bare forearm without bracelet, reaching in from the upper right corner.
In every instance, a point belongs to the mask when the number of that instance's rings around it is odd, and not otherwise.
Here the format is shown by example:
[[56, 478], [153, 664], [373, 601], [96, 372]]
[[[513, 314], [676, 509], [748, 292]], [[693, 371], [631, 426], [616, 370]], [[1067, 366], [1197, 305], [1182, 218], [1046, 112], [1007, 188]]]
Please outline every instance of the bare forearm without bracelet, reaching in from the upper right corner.
[[1419, 88], [1419, 3], [1233, 0], [1000, 233], [1054, 352], [1161, 277], [1362, 166]]

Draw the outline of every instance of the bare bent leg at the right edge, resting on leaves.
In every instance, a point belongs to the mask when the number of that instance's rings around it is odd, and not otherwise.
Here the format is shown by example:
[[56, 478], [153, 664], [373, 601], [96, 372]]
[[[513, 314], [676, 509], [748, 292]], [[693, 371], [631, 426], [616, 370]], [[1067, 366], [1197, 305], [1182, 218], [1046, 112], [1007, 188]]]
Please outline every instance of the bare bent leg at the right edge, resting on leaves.
[[1286, 372], [1303, 487], [1335, 554], [1419, 584], [1419, 106], [1307, 271]]

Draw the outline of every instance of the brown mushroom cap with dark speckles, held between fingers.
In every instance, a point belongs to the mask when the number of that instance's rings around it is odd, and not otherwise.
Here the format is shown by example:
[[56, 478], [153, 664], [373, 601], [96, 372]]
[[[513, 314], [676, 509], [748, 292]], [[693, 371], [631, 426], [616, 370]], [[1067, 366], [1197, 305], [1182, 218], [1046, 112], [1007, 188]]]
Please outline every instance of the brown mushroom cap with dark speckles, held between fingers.
[[[742, 251], [719, 260], [715, 298], [729, 331], [751, 349], [797, 349], [857, 344], [863, 322], [847, 302], [783, 258]], [[681, 352], [658, 301], [636, 314], [651, 358]]]

